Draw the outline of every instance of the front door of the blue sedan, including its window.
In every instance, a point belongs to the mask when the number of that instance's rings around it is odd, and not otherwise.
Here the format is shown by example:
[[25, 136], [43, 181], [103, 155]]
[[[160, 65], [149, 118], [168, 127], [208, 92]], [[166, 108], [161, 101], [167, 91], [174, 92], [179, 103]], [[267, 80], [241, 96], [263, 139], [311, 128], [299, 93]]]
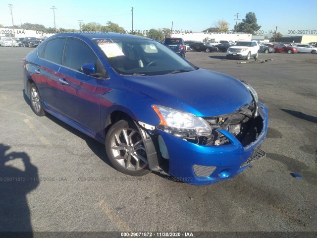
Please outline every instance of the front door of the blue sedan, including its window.
[[98, 62], [96, 54], [85, 42], [69, 37], [65, 46], [64, 63], [58, 71], [58, 81], [62, 114], [101, 134], [101, 86], [105, 79], [81, 72], [81, 65], [85, 63], [103, 67]]

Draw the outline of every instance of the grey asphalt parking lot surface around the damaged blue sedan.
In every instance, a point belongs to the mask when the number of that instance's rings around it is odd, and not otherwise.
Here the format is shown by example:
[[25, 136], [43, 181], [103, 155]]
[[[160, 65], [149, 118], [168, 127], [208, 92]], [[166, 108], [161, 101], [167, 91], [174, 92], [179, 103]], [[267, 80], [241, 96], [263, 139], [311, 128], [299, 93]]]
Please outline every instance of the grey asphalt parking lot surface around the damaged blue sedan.
[[250, 83], [269, 115], [266, 158], [234, 179], [192, 186], [121, 174], [103, 144], [37, 117], [22, 91], [21, 60], [32, 50], [0, 48], [0, 212], [9, 217], [0, 231], [317, 231], [316, 55], [239, 64], [187, 52], [198, 67]]

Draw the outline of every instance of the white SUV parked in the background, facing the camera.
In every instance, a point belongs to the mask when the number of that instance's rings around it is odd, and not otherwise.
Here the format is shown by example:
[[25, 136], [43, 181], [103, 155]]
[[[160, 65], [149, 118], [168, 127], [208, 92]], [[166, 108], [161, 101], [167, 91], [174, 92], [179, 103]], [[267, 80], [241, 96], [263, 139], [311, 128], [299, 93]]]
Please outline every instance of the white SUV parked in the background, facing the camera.
[[260, 46], [257, 41], [238, 41], [228, 48], [226, 58], [250, 60], [250, 57], [253, 56], [254, 59], [258, 59], [259, 51]]

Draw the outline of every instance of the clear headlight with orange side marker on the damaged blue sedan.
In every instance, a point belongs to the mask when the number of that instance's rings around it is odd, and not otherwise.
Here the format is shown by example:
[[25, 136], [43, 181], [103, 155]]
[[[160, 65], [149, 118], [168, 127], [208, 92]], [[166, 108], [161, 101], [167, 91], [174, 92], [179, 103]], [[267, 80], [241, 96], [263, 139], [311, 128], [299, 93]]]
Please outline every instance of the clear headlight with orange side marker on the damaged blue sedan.
[[152, 108], [159, 117], [157, 128], [178, 137], [208, 136], [211, 127], [202, 118], [159, 105]]

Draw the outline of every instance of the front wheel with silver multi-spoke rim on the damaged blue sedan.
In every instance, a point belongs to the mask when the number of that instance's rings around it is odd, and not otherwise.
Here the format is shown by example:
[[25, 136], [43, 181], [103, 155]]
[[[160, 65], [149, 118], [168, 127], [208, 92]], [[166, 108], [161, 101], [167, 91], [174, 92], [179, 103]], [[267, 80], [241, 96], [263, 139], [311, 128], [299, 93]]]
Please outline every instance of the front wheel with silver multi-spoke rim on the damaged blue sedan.
[[144, 176], [150, 173], [147, 152], [139, 128], [132, 120], [119, 120], [106, 134], [106, 153], [121, 173]]

